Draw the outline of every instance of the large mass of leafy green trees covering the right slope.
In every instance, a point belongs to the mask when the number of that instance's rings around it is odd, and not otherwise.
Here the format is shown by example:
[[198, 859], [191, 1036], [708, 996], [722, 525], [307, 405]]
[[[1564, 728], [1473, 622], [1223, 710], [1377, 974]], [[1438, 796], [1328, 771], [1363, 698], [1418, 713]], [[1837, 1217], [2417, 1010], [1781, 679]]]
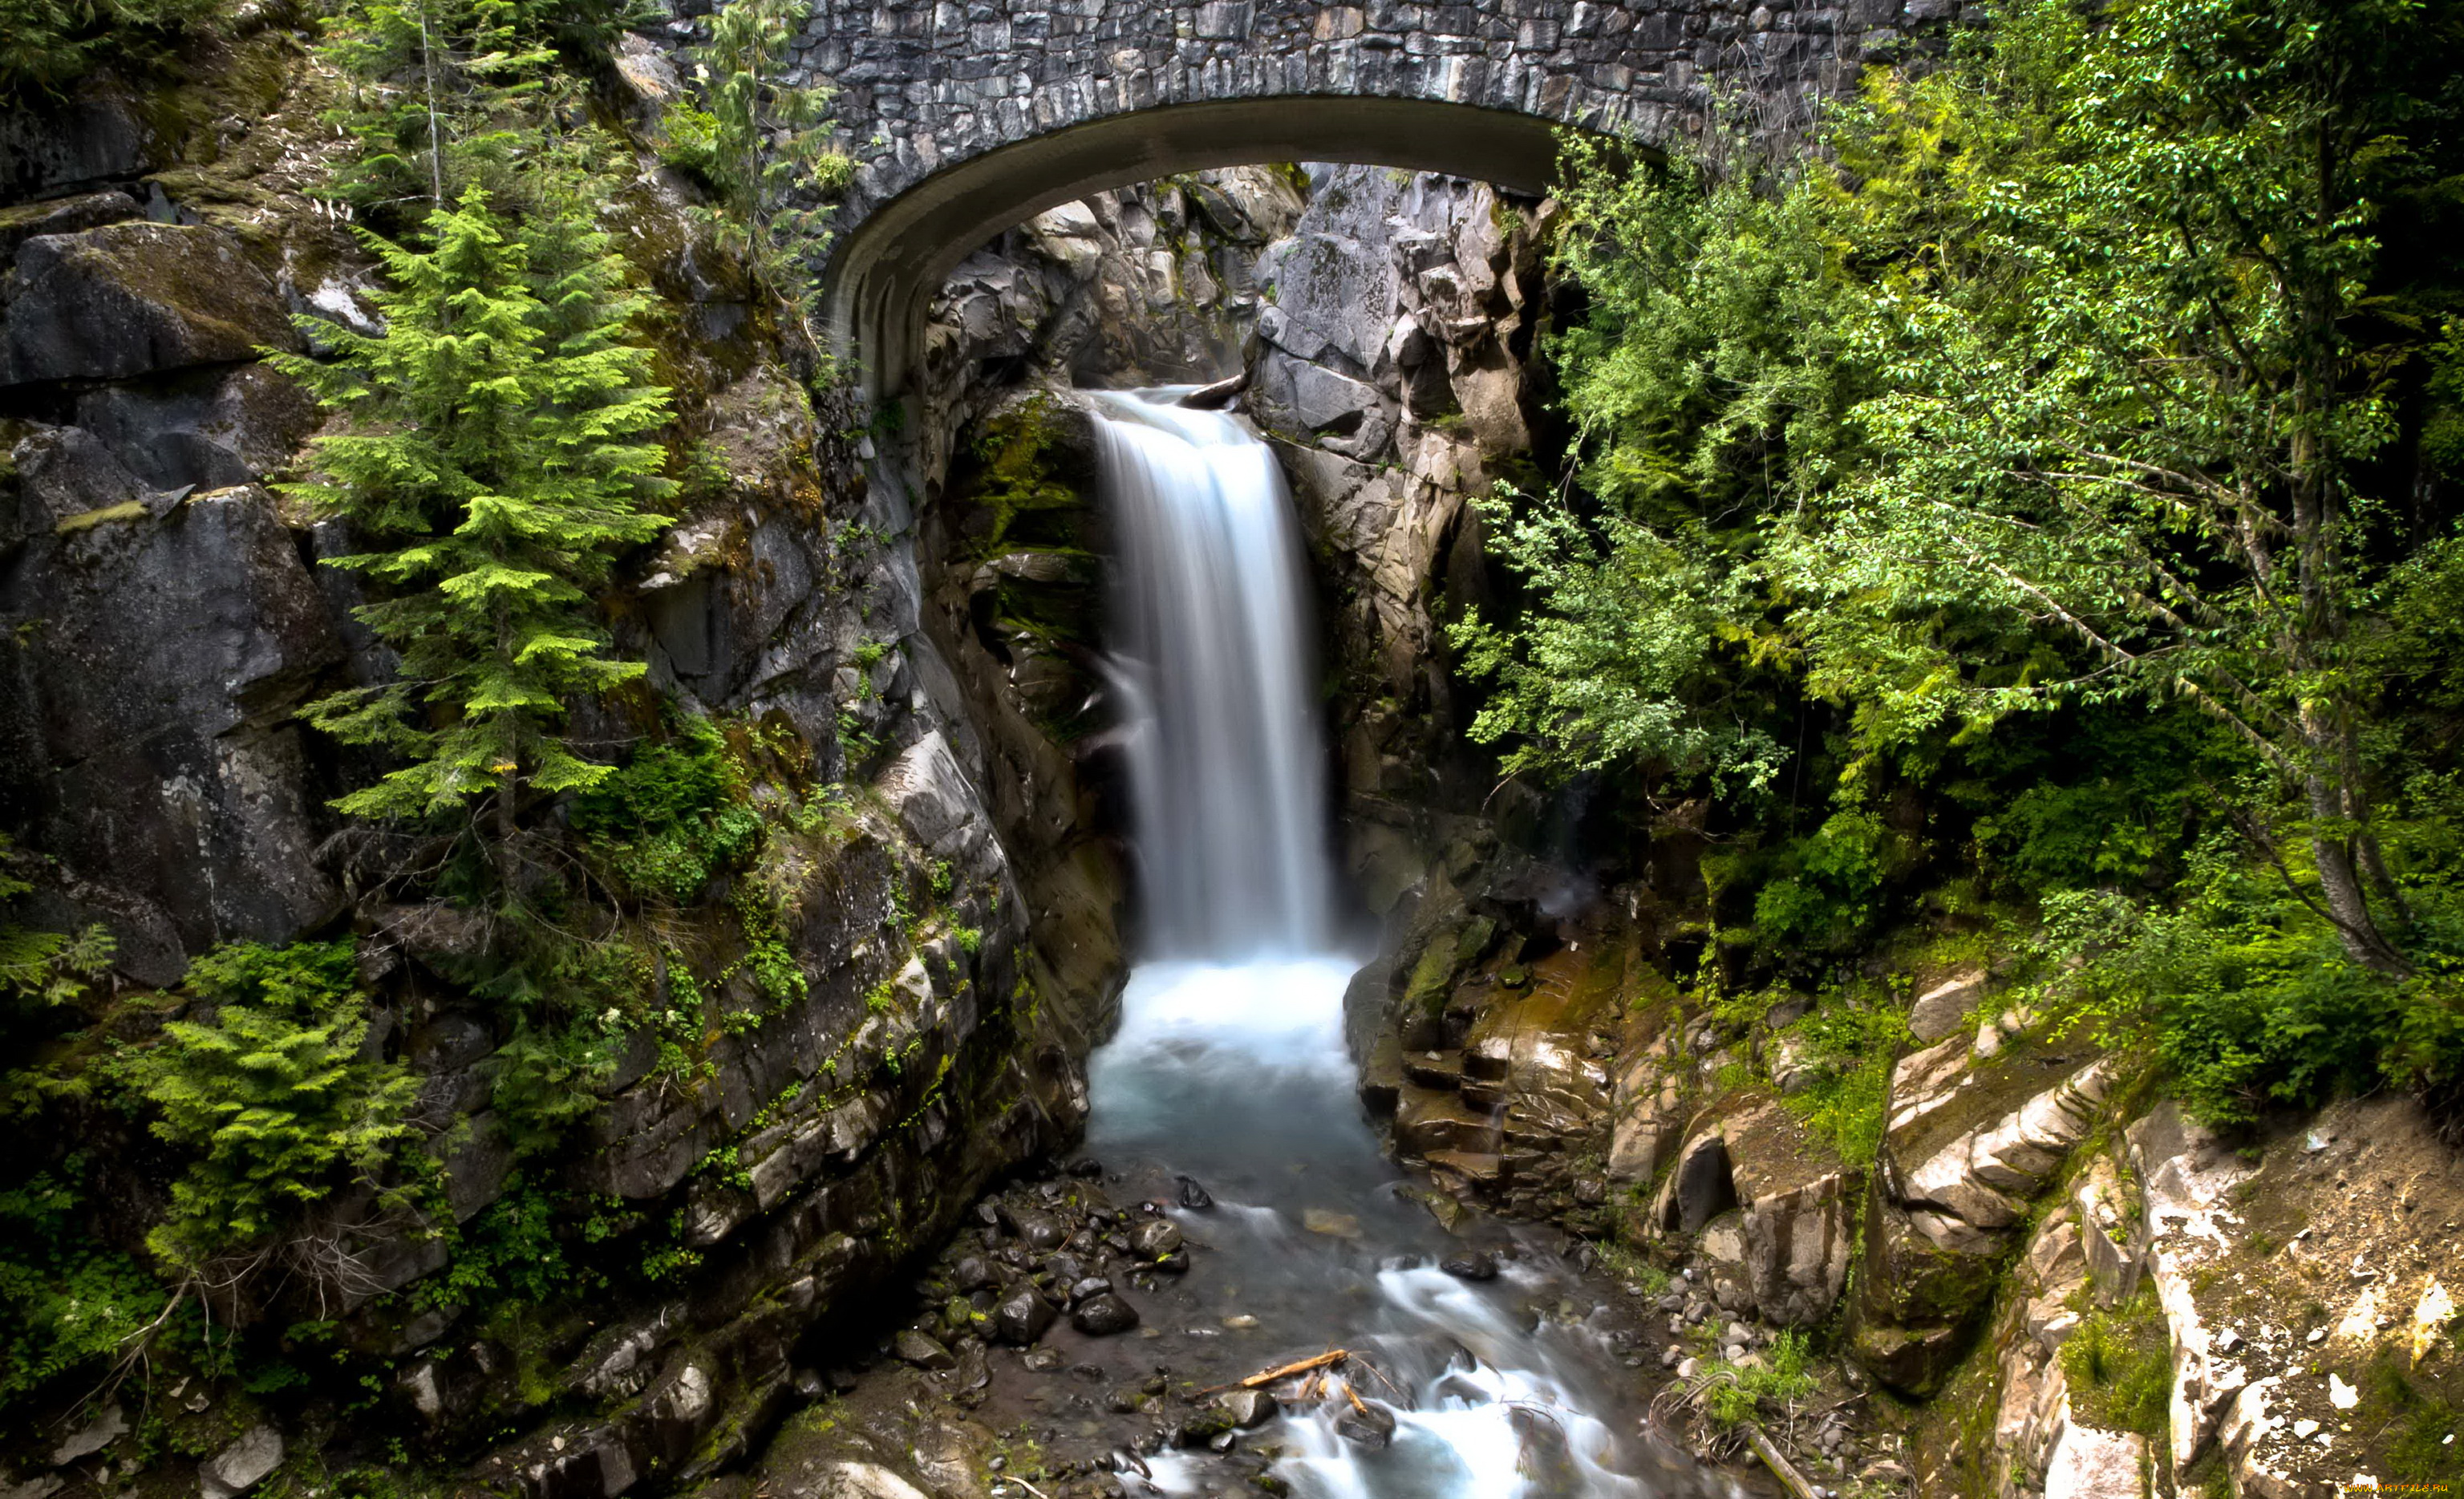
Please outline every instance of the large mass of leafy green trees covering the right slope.
[[1456, 643], [1508, 772], [1710, 801], [1708, 994], [2045, 900], [2213, 1119], [2457, 1087], [2459, 59], [2454, 7], [2008, 0], [1811, 158], [1570, 148], [1574, 464]]

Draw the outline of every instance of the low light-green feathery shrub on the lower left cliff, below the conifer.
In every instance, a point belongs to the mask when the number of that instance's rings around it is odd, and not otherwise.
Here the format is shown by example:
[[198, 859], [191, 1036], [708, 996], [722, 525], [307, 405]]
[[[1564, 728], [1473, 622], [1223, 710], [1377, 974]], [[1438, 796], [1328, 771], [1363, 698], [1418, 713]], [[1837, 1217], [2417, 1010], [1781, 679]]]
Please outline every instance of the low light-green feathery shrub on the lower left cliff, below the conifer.
[[200, 1270], [264, 1248], [338, 1186], [375, 1183], [411, 1137], [419, 1092], [402, 1063], [365, 1060], [355, 942], [237, 942], [190, 964], [202, 1018], [163, 1026], [133, 1063], [153, 1132], [190, 1156], [148, 1235]]

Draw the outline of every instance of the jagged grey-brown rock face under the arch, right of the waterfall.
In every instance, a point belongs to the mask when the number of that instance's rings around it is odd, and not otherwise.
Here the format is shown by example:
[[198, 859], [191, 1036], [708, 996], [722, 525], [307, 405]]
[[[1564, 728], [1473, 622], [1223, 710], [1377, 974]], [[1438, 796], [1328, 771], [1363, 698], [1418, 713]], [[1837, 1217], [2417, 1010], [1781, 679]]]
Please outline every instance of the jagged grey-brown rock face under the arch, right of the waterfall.
[[1533, 444], [1523, 360], [1542, 210], [1449, 178], [1313, 168], [1308, 212], [1259, 259], [1249, 412], [1321, 565], [1355, 875], [1385, 915], [1427, 868], [1402, 806], [1473, 809], [1439, 614], [1478, 602], [1486, 493]]

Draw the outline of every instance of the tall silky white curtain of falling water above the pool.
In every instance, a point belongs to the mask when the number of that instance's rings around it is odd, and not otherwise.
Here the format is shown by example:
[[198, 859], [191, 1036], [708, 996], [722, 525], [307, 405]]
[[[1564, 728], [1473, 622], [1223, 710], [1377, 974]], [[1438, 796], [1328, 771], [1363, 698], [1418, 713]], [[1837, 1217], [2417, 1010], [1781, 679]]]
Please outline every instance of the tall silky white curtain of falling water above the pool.
[[1109, 394], [1136, 735], [1131, 796], [1156, 957], [1316, 952], [1326, 786], [1301, 547], [1274, 454], [1232, 417]]

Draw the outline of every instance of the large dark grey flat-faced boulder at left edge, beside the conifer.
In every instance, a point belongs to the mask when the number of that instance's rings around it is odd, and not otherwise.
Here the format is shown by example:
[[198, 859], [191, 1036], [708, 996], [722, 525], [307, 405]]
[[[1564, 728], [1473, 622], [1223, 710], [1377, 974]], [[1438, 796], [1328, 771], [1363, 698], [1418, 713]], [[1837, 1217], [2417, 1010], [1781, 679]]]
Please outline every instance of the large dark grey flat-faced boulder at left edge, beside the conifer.
[[325, 597], [261, 488], [47, 535], [0, 572], [0, 796], [150, 984], [224, 939], [288, 942], [338, 905], [296, 708], [340, 661]]

